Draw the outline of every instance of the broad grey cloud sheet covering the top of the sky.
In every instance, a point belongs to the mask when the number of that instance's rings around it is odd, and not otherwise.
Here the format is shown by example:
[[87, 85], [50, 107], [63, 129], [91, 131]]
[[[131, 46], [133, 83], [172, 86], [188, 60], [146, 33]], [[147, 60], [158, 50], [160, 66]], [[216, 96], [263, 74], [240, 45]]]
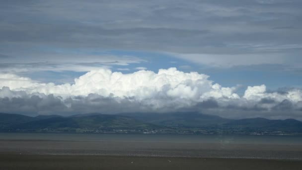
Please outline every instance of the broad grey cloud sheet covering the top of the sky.
[[168, 52], [207, 65], [297, 69], [301, 7], [300, 0], [4, 0], [0, 50], [31, 62], [58, 55], [57, 48], [93, 48]]

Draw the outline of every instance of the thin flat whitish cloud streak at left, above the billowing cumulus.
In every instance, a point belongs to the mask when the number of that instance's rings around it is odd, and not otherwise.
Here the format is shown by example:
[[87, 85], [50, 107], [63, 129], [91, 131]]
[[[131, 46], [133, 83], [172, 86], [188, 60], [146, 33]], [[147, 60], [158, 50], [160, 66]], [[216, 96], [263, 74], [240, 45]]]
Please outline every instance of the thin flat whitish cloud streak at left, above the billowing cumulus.
[[[41, 57], [43, 56], [43, 57]], [[32, 62], [34, 61], [34, 63]], [[20, 73], [38, 71], [74, 71], [89, 72], [100, 68], [112, 68], [113, 66], [128, 66], [141, 63], [145, 60], [132, 56], [106, 56], [106, 55], [61, 55], [39, 54], [30, 58], [4, 58], [0, 62], [1, 73]]]

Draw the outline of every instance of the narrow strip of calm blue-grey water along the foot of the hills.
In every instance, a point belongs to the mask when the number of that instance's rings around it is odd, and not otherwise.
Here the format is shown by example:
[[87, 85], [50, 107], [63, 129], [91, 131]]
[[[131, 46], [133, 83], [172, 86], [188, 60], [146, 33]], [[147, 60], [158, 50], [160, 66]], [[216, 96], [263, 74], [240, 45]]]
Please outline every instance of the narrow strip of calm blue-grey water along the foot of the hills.
[[302, 145], [302, 136], [275, 135], [182, 135], [182, 134], [75, 134], [0, 133], [0, 140], [118, 141], [222, 144]]

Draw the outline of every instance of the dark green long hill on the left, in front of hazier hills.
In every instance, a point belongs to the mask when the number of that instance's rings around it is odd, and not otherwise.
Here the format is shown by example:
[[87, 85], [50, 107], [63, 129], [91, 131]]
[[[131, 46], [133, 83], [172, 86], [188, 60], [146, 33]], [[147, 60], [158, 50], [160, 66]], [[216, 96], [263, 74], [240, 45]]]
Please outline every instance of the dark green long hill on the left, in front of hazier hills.
[[[5, 115], [7, 116], [7, 115]], [[19, 115], [11, 115], [12, 117]], [[107, 114], [81, 114], [69, 117], [62, 117], [58, 115], [28, 117], [22, 116], [24, 119], [29, 118], [28, 121], [20, 121], [19, 123], [9, 124], [12, 129], [22, 130], [37, 130], [37, 129], [69, 129], [73, 131], [80, 129], [152, 129], [158, 128], [156, 125], [144, 123], [131, 117], [122, 115], [107, 115]], [[1, 116], [0, 116], [1, 118]]]

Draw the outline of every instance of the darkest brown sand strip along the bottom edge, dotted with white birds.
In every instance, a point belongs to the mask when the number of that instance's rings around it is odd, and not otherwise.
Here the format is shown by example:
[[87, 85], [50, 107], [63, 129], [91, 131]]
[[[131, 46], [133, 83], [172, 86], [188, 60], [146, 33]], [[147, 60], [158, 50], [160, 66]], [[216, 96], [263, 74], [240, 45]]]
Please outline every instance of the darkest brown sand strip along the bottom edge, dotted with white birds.
[[80, 155], [0, 155], [0, 170], [301, 170], [301, 161]]

